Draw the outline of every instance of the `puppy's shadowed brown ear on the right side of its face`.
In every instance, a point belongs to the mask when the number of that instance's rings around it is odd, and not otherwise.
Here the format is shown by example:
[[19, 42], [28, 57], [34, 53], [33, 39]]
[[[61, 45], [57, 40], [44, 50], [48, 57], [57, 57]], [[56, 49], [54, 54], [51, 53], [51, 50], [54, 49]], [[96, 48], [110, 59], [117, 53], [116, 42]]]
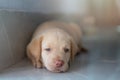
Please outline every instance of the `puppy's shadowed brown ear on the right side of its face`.
[[75, 57], [77, 52], [78, 52], [78, 46], [76, 45], [76, 43], [73, 40], [71, 40], [71, 57], [70, 57], [70, 62], [72, 62], [74, 60], [74, 57]]

